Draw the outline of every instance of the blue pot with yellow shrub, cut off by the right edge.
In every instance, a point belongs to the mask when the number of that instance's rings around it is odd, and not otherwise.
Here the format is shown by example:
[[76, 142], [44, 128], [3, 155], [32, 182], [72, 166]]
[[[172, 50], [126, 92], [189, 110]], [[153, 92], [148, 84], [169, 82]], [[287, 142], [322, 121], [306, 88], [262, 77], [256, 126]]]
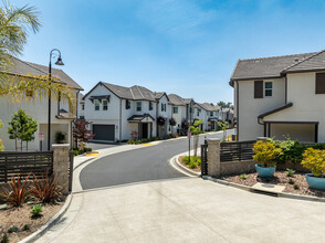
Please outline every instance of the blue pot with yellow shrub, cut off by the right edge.
[[307, 148], [303, 157], [302, 166], [312, 170], [305, 175], [308, 186], [325, 190], [325, 150]]

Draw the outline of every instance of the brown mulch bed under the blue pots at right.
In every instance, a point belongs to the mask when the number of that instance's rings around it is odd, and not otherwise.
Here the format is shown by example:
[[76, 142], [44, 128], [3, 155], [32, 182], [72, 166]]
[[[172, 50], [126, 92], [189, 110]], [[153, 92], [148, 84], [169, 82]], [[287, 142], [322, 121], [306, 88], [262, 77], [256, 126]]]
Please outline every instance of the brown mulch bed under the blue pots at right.
[[[301, 172], [296, 172], [294, 177], [286, 177], [285, 171], [275, 171], [274, 177], [270, 179], [260, 178], [256, 172], [251, 172], [247, 173], [245, 180], [242, 179], [240, 175], [226, 176], [222, 179], [249, 187], [256, 182], [284, 186], [285, 189], [283, 192], [325, 198], [325, 191], [311, 189], [307, 184], [305, 173]], [[294, 184], [289, 183], [290, 179], [294, 181]], [[295, 184], [298, 186], [298, 189], [294, 189]]]

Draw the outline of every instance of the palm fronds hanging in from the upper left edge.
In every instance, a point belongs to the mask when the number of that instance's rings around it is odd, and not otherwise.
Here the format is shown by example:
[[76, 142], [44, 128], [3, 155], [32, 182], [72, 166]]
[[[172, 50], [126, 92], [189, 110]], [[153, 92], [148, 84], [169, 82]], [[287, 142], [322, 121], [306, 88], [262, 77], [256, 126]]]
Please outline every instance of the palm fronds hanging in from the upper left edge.
[[73, 89], [57, 78], [53, 77], [50, 81], [48, 75], [11, 75], [9, 72], [12, 56], [23, 52], [29, 31], [35, 33], [40, 27], [39, 12], [35, 8], [29, 6], [18, 8], [7, 1], [2, 2], [0, 7], [0, 97], [6, 95], [6, 98], [12, 102], [21, 102], [29, 101], [31, 97], [46, 97], [51, 92], [54, 98], [60, 97], [62, 102], [69, 104], [71, 110], [74, 110]]

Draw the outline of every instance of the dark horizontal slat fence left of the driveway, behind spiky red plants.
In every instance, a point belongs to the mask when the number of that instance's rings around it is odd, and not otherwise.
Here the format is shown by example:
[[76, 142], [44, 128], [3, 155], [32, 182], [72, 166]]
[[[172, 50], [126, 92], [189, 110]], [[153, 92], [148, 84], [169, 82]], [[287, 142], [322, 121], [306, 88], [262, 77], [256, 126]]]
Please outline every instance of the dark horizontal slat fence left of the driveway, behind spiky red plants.
[[52, 151], [0, 152], [0, 182], [7, 182], [17, 175], [24, 178], [30, 172], [40, 178], [46, 170], [53, 172]]

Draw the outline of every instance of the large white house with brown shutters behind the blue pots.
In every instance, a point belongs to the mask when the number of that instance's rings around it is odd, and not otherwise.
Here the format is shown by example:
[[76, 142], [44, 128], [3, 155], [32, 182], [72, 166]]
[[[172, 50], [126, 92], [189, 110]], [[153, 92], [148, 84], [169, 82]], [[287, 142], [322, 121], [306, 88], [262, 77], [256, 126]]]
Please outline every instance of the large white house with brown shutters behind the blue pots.
[[239, 140], [325, 142], [325, 51], [239, 60], [230, 85]]

